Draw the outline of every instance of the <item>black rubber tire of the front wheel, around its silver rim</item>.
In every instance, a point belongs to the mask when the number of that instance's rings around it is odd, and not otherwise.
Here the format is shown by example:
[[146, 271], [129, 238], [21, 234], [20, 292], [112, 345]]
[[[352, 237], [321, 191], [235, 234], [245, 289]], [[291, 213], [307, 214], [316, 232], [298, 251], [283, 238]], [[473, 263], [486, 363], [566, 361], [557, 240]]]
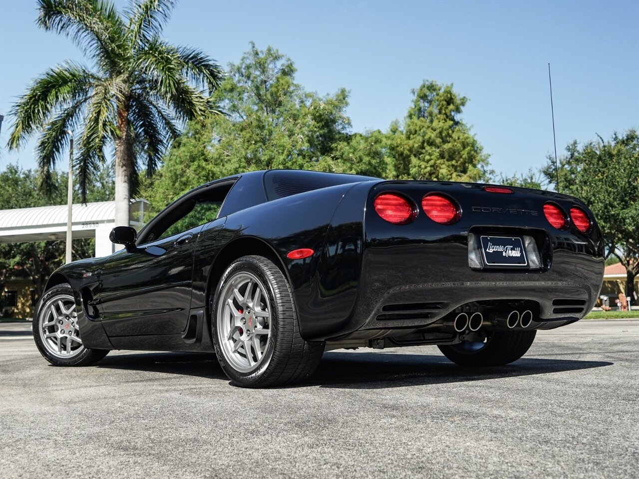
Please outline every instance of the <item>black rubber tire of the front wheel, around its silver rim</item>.
[[[71, 298], [71, 299], [69, 299]], [[43, 328], [41, 324], [41, 319], [44, 322], [50, 316], [50, 305], [58, 301], [63, 301], [66, 303], [68, 307], [75, 308], [75, 301], [73, 301], [73, 289], [69, 284], [63, 283], [57, 286], [52, 287], [47, 290], [38, 301], [38, 305], [36, 306], [35, 314], [33, 315], [33, 323], [31, 329], [33, 330], [33, 339], [36, 342], [36, 346], [38, 347], [38, 351], [42, 354], [45, 360], [49, 361], [54, 366], [89, 366], [96, 361], [100, 361], [104, 356], [109, 353], [109, 350], [105, 349], [89, 349], [88, 347], [84, 347], [82, 344], [75, 343], [73, 346], [73, 342], [71, 342], [70, 350], [72, 351], [71, 357], [65, 358], [61, 356], [56, 356], [54, 351], [51, 350], [50, 342], [48, 342], [48, 338], [45, 338], [45, 332], [54, 333], [55, 331], [68, 327], [68, 324], [77, 323], [77, 317], [75, 317], [75, 312], [70, 313], [69, 316], [62, 317], [60, 321], [63, 321], [63, 324], [54, 324], [52, 326], [47, 326]], [[47, 331], [45, 331], [47, 330]], [[81, 335], [81, 333], [79, 333]], [[81, 339], [82, 337], [79, 336]], [[58, 338], [56, 339], [66, 347], [66, 342], [69, 341], [68, 338]], [[47, 344], [45, 344], [45, 341]], [[75, 347], [75, 349], [73, 349]]]

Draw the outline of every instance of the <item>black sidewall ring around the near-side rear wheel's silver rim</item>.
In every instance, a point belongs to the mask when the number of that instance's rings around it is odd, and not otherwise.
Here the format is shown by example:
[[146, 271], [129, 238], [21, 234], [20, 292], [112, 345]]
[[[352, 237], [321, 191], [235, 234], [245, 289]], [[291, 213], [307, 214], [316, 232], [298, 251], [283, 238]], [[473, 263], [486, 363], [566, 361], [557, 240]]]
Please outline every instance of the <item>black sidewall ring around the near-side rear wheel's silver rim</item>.
[[[273, 358], [273, 353], [275, 352], [275, 347], [277, 345], [278, 340], [278, 326], [279, 326], [279, 311], [277, 310], [277, 301], [275, 301], [275, 291], [273, 291], [272, 281], [266, 277], [265, 271], [256, 264], [256, 262], [251, 261], [250, 257], [243, 257], [231, 263], [231, 265], [224, 271], [222, 278], [217, 284], [215, 288], [215, 295], [212, 300], [211, 307], [211, 331], [213, 336], [213, 346], [215, 346], [215, 354], [217, 355], [218, 362], [220, 367], [224, 370], [226, 375], [233, 381], [234, 383], [241, 384], [242, 386], [255, 386], [259, 384], [263, 378], [268, 374], [268, 369]], [[268, 308], [271, 314], [270, 317], [270, 328], [271, 333], [268, 338], [268, 347], [266, 348], [266, 356], [259, 363], [257, 369], [252, 370], [251, 372], [239, 372], [229, 363], [227, 363], [224, 354], [222, 353], [222, 348], [220, 346], [219, 333], [217, 329], [217, 310], [219, 307], [220, 301], [220, 293], [222, 289], [226, 286], [227, 280], [236, 273], [240, 273], [242, 271], [247, 271], [252, 273], [262, 282], [265, 287], [265, 293], [268, 299]]]

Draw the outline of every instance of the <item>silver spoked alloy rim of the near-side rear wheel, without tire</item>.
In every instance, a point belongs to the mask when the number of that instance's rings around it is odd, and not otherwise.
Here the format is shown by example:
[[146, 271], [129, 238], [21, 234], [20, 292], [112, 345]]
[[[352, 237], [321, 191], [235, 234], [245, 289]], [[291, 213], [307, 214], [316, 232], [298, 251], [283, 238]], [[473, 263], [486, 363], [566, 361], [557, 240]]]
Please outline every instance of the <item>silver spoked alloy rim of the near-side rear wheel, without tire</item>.
[[247, 271], [236, 273], [220, 291], [217, 335], [226, 361], [238, 372], [258, 368], [271, 337], [271, 314], [266, 288]]

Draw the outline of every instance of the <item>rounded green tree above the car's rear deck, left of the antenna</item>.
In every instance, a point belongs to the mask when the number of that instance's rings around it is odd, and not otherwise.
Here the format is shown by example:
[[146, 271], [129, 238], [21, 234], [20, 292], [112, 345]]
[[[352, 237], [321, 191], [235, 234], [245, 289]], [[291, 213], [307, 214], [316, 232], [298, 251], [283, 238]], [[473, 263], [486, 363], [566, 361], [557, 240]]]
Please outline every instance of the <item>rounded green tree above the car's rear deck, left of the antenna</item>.
[[451, 85], [424, 81], [413, 89], [403, 125], [390, 126], [389, 176], [399, 179], [479, 181], [488, 155], [461, 120], [468, 102]]

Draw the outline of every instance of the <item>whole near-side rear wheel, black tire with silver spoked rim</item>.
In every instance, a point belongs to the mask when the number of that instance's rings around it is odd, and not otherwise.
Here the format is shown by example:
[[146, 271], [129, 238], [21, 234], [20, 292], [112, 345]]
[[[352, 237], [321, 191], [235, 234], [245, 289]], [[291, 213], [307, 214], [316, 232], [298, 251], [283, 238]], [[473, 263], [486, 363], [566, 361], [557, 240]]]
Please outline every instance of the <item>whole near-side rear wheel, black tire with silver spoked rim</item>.
[[300, 337], [291, 287], [270, 259], [245, 256], [232, 262], [211, 311], [215, 353], [238, 386], [296, 383], [321, 360], [324, 343]]

